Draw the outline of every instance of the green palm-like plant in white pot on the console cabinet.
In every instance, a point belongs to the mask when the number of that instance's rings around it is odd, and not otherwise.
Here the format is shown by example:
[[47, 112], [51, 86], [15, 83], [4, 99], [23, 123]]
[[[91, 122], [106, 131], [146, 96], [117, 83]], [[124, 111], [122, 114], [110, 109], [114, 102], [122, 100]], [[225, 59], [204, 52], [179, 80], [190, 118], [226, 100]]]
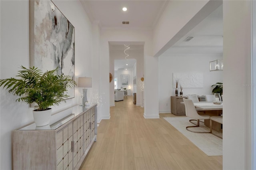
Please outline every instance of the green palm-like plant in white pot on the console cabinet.
[[16, 77], [20, 79], [11, 77], [0, 80], [0, 86], [4, 85], [3, 88], [9, 89], [9, 93], [20, 96], [16, 101], [35, 104], [33, 116], [38, 127], [49, 124], [52, 115], [50, 107], [66, 102], [67, 89], [76, 85], [72, 77], [58, 75], [58, 68], [42, 73], [38, 68], [21, 66]]

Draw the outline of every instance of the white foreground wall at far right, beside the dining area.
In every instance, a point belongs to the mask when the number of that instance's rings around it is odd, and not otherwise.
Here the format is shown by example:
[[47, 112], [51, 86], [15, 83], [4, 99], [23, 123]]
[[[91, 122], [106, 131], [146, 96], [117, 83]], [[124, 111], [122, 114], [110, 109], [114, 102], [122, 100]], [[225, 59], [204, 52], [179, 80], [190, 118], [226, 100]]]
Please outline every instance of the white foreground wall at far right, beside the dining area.
[[224, 170], [252, 169], [251, 3], [223, 1]]

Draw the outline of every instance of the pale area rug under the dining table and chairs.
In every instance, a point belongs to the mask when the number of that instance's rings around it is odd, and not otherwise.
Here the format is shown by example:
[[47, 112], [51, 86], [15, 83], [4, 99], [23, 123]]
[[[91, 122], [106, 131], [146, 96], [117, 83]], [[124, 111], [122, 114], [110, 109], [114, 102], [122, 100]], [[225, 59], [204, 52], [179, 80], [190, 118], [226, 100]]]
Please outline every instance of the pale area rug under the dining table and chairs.
[[[189, 122], [188, 117], [164, 117], [164, 119], [186, 136], [200, 150], [208, 156], [222, 156], [222, 139], [210, 133], [193, 133], [186, 130], [187, 126], [193, 126]], [[196, 123], [196, 121], [195, 121]], [[196, 131], [210, 131], [210, 128], [205, 127], [204, 123], [200, 122], [200, 126], [196, 127]], [[195, 129], [191, 129], [195, 130]]]

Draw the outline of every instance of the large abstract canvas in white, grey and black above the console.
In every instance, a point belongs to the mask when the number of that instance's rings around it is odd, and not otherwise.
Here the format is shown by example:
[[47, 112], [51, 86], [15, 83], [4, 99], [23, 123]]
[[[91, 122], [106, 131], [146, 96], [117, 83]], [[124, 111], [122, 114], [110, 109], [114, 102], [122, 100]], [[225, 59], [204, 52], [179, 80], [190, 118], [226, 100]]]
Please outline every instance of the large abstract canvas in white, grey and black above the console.
[[[75, 28], [50, 0], [30, 0], [30, 67], [58, 74], [75, 71]], [[68, 89], [69, 98], [74, 88]]]

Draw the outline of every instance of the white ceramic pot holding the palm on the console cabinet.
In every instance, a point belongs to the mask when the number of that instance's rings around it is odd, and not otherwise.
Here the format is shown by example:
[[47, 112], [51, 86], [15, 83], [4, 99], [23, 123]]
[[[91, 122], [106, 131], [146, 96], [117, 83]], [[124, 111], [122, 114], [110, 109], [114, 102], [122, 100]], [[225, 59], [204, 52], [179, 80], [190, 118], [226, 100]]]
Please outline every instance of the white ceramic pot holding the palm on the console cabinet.
[[52, 116], [52, 109], [49, 108], [46, 111], [33, 111], [34, 121], [37, 127], [42, 127], [50, 123]]

